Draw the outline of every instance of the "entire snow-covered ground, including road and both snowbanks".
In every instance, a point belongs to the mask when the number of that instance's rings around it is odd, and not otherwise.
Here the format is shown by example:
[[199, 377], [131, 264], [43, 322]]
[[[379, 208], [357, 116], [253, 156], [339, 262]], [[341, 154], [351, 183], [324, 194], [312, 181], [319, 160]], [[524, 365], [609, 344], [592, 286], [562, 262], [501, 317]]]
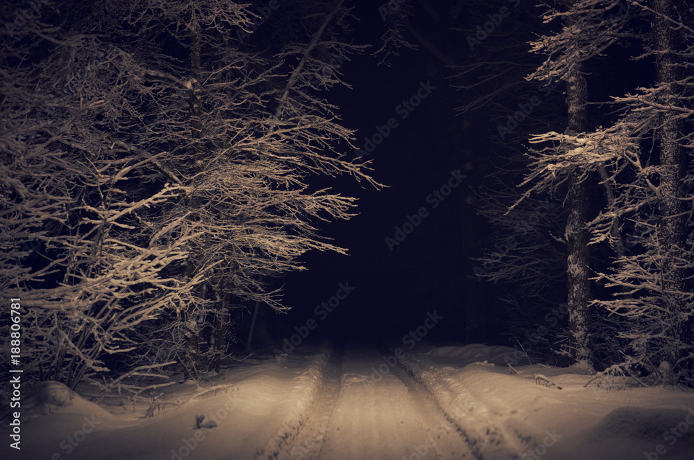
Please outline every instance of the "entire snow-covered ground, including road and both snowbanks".
[[511, 375], [513, 353], [305, 348], [251, 357], [139, 403], [44, 382], [22, 401], [21, 451], [9, 448], [3, 421], [0, 457], [694, 459], [693, 393], [585, 388], [591, 376], [579, 369], [540, 364]]

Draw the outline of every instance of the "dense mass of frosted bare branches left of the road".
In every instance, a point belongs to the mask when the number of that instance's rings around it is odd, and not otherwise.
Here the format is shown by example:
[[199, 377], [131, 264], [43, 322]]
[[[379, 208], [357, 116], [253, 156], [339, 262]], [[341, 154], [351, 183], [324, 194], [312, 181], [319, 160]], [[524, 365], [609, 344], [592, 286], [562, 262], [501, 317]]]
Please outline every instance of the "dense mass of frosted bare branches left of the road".
[[273, 278], [305, 251], [344, 253], [316, 222], [354, 200], [311, 179], [378, 184], [341, 154], [337, 107], [307, 95], [342, 83], [328, 57], [358, 50], [335, 26], [342, 1], [316, 8], [301, 42], [266, 55], [237, 37], [253, 10], [217, 0], [67, 2], [8, 37], [3, 292], [28, 308], [43, 378], [74, 387], [136, 349], [155, 364], [148, 344], [195, 378], [201, 328], [214, 317], [219, 355], [230, 297], [283, 310]]

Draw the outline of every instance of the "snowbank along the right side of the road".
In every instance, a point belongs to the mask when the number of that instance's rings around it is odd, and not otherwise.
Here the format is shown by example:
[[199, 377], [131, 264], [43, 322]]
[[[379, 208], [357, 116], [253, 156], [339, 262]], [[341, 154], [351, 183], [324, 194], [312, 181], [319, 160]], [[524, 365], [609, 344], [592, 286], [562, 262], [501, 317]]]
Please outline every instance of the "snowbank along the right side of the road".
[[511, 375], [509, 352], [423, 348], [402, 362], [484, 459], [694, 459], [692, 393], [584, 388], [589, 375], [544, 365], [515, 365]]

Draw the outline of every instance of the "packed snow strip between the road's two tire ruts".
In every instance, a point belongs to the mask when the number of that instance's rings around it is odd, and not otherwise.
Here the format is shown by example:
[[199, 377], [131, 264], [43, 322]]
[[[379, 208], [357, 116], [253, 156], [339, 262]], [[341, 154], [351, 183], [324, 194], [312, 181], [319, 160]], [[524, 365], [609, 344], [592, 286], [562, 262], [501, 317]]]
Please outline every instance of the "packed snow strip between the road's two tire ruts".
[[337, 405], [323, 439], [321, 460], [474, 460], [457, 430], [402, 369], [373, 380], [382, 357], [350, 348], [342, 364]]

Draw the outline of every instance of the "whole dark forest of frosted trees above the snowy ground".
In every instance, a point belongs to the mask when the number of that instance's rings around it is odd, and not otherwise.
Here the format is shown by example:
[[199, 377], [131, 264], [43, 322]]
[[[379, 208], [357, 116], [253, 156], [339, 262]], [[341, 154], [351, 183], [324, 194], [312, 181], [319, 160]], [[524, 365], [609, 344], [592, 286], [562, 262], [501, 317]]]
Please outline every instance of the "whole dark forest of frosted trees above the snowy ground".
[[438, 310], [439, 343], [694, 387], [691, 3], [0, 16], [0, 328], [24, 383], [196, 381], [309, 335], [335, 296], [321, 337], [385, 342]]

